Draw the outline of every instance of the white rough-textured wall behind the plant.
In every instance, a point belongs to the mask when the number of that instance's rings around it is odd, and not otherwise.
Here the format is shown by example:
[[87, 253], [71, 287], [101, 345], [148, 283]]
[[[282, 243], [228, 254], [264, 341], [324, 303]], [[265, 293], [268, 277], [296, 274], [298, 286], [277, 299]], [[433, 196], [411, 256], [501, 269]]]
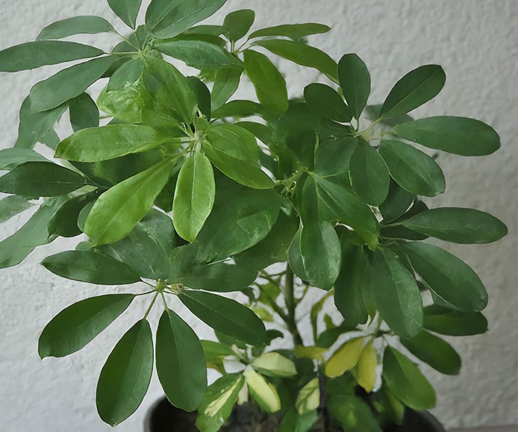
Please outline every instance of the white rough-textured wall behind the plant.
[[[358, 53], [371, 71], [373, 103], [382, 102], [407, 71], [426, 63], [441, 64], [447, 84], [416, 114], [474, 117], [499, 132], [502, 149], [494, 155], [463, 159], [441, 154], [448, 187], [434, 201], [491, 211], [510, 229], [510, 235], [497, 244], [449, 247], [477, 270], [490, 292], [486, 310], [490, 332], [451, 339], [464, 361], [460, 376], [444, 377], [426, 366], [423, 369], [438, 392], [435, 413], [446, 425], [518, 424], [518, 1], [229, 0], [216, 18], [242, 7], [256, 10], [256, 28], [305, 21], [332, 26], [332, 33], [314, 37], [314, 45], [337, 60], [343, 53]], [[114, 18], [103, 0], [0, 0], [0, 49], [35, 38], [40, 28], [57, 19], [95, 14]], [[93, 43], [97, 37], [83, 40]], [[317, 78], [310, 69], [284, 62], [281, 67], [290, 73], [293, 94]], [[0, 75], [0, 148], [12, 146], [16, 139], [18, 108], [31, 85], [54, 70]], [[63, 127], [60, 133], [66, 130]], [[22, 222], [3, 225], [0, 236], [12, 233]], [[55, 242], [37, 250], [23, 265], [0, 271], [1, 430], [110, 430], [95, 412], [97, 376], [123, 330], [142, 312], [133, 308], [133, 313], [126, 313], [80, 353], [40, 362], [37, 338], [55, 313], [85, 295], [113, 291], [62, 280], [39, 266], [44, 256], [65, 244]], [[196, 328], [207, 336], [206, 327], [197, 324]], [[154, 378], [142, 407], [117, 430], [142, 430], [147, 407], [160, 395]]]

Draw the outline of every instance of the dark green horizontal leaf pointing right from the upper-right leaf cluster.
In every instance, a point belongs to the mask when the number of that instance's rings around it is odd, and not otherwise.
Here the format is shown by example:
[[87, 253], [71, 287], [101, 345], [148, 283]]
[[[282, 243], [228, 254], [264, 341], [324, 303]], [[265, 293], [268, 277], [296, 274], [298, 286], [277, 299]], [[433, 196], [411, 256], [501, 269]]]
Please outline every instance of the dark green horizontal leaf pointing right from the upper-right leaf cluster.
[[461, 156], [483, 156], [500, 148], [500, 137], [495, 129], [464, 117], [428, 117], [398, 124], [392, 131], [430, 149]]

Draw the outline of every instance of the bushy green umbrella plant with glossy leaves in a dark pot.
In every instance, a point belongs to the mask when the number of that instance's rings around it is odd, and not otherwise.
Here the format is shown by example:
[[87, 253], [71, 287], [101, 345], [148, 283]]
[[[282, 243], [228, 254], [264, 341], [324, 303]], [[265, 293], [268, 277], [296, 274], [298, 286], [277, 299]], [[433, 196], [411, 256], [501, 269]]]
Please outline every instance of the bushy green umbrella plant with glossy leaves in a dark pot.
[[[6, 72], [89, 59], [34, 85], [15, 146], [0, 151], [2, 220], [39, 207], [0, 243], [0, 266], [74, 237], [75, 250], [42, 265], [132, 285], [57, 314], [39, 338], [41, 358], [82, 349], [147, 296], [100, 372], [97, 409], [112, 426], [137, 410], [155, 367], [178, 408], [161, 403], [155, 413], [175, 430], [440, 430], [425, 413], [434, 389], [407, 354], [457, 374], [461, 359], [437, 335], [486, 332], [487, 293], [470, 267], [426, 240], [489, 243], [507, 228], [479, 210], [428, 208], [422, 197], [444, 192], [445, 180], [422, 149], [487, 155], [498, 134], [473, 119], [409, 116], [442, 89], [438, 65], [410, 71], [381, 105], [367, 105], [364, 62], [346, 54], [336, 63], [308, 45], [325, 25], [251, 32], [252, 10], [198, 24], [225, 0], [152, 0], [137, 27], [140, 0], [108, 3], [132, 29], [109, 53], [62, 40], [117, 33], [94, 16], [0, 51]], [[289, 96], [270, 54], [327, 83]], [[199, 74], [184, 76], [170, 57]], [[94, 102], [87, 90], [102, 79]], [[244, 79], [258, 102], [231, 100]], [[74, 133], [62, 140], [54, 124], [66, 110]], [[200, 341], [180, 304], [217, 340]], [[153, 307], [163, 309], [154, 341]], [[207, 368], [221, 375], [210, 385]]]

